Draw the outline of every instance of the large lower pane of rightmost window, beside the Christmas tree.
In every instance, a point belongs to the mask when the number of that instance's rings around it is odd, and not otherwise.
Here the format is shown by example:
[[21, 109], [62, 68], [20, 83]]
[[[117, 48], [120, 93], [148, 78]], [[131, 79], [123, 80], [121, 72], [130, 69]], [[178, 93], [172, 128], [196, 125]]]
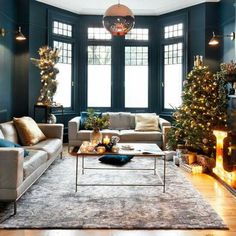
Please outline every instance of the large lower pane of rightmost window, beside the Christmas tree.
[[173, 109], [181, 105], [183, 77], [182, 43], [165, 45], [164, 50], [164, 108]]

